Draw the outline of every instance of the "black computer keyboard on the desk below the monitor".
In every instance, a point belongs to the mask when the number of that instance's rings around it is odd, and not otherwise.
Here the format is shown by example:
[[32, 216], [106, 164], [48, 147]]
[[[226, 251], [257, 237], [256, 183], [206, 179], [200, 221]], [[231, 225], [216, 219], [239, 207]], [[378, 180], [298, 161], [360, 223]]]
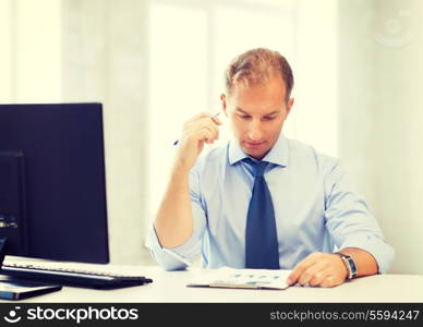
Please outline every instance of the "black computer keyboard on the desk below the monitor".
[[38, 264], [3, 264], [0, 274], [31, 281], [96, 289], [122, 288], [153, 282], [152, 279], [137, 275], [49, 267]]

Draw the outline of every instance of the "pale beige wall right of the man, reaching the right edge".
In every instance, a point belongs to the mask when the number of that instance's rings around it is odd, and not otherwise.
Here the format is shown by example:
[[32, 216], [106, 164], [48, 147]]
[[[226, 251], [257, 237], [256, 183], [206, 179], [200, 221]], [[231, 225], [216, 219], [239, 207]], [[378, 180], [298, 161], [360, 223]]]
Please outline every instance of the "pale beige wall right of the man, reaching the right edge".
[[423, 52], [418, 0], [339, 1], [339, 144], [396, 250], [422, 274]]

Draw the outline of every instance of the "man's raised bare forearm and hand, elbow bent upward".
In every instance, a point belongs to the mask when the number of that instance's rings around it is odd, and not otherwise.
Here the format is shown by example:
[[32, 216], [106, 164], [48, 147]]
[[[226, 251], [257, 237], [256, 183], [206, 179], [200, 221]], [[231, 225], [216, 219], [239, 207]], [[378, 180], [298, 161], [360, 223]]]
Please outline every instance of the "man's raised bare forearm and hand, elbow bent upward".
[[183, 126], [170, 181], [154, 222], [157, 238], [164, 247], [177, 247], [192, 235], [189, 173], [204, 143], [213, 143], [218, 138], [218, 124], [221, 122], [217, 118], [201, 113]]

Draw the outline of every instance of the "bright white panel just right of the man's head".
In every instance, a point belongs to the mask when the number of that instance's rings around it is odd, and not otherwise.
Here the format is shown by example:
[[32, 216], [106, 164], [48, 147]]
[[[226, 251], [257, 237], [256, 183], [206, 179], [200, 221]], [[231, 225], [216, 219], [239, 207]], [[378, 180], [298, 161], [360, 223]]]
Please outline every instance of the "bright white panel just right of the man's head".
[[338, 1], [295, 1], [295, 56], [288, 137], [338, 156]]

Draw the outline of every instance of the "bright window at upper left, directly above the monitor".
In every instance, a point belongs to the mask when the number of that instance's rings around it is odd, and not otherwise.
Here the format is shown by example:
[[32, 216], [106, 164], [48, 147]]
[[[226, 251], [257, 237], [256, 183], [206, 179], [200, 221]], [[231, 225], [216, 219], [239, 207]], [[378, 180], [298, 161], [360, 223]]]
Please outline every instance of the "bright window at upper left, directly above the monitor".
[[0, 1], [1, 102], [60, 101], [61, 32], [61, 1]]

